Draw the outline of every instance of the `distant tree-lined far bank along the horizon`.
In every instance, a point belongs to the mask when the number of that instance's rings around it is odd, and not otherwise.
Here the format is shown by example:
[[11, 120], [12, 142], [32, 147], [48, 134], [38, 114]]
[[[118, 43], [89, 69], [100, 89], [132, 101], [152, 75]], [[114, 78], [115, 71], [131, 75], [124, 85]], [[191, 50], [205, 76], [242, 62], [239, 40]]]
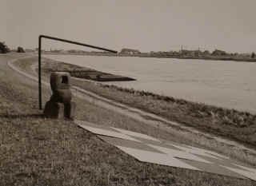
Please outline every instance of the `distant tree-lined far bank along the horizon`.
[[[0, 53], [8, 52], [37, 52], [38, 49], [23, 49], [18, 46], [17, 49], [9, 49], [4, 42], [0, 42]], [[96, 56], [120, 56], [120, 57], [164, 57], [164, 58], [187, 58], [187, 59], [209, 59], [209, 60], [233, 60], [233, 61], [254, 61], [256, 62], [255, 53], [227, 53], [221, 49], [209, 50], [200, 49], [180, 49], [179, 51], [158, 51], [142, 53], [138, 49], [123, 48], [118, 53], [109, 53], [102, 51], [85, 51], [80, 49], [50, 49], [42, 50], [42, 53], [46, 54], [74, 54], [74, 55], [96, 55]]]

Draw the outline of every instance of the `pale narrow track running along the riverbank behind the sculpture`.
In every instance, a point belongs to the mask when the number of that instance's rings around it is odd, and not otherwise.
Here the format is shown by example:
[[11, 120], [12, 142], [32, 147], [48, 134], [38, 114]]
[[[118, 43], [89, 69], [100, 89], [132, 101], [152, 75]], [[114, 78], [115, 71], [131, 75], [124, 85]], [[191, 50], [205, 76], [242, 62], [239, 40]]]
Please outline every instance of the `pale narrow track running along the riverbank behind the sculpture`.
[[[32, 72], [30, 74], [23, 72], [21, 69], [18, 69], [14, 65], [15, 61], [17, 61], [17, 59], [8, 61], [8, 65], [11, 69], [14, 69], [16, 72], [22, 74], [23, 76], [29, 77], [31, 80], [38, 81], [38, 77], [31, 75], [36, 74], [35, 72]], [[35, 65], [33, 65], [31, 69], [35, 69]], [[50, 86], [50, 83], [48, 83], [47, 81], [42, 81], [42, 85]], [[153, 126], [155, 129], [164, 130], [172, 133], [174, 129], [178, 128], [179, 130], [181, 130], [180, 133], [183, 133], [184, 136], [190, 137], [190, 135], [194, 135], [199, 137], [205, 137], [206, 139], [210, 139], [211, 141], [218, 142], [218, 144], [227, 145], [230, 146], [230, 148], [238, 149], [243, 152], [256, 155], [256, 151], [254, 149], [246, 148], [243, 144], [239, 144], [232, 140], [224, 139], [222, 137], [216, 137], [210, 133], [202, 133], [198, 130], [186, 127], [176, 122], [168, 121], [165, 118], [159, 117], [153, 113], [147, 113], [140, 109], [135, 109], [130, 106], [120, 104], [116, 101], [106, 99], [105, 97], [100, 97], [97, 94], [91, 93], [85, 89], [81, 89], [78, 86], [72, 86], [72, 93], [76, 97], [94, 103], [95, 105], [101, 106], [102, 108], [110, 109], [114, 112], [121, 113], [128, 117], [134, 118], [135, 120], [142, 121], [146, 125]]]

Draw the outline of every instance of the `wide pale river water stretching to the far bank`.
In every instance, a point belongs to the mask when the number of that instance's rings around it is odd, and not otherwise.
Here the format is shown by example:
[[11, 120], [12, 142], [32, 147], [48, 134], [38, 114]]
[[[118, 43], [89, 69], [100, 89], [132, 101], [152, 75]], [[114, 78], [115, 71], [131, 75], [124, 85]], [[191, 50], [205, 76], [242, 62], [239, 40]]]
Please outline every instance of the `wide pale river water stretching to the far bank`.
[[137, 79], [106, 84], [256, 113], [256, 63], [151, 57], [45, 57]]

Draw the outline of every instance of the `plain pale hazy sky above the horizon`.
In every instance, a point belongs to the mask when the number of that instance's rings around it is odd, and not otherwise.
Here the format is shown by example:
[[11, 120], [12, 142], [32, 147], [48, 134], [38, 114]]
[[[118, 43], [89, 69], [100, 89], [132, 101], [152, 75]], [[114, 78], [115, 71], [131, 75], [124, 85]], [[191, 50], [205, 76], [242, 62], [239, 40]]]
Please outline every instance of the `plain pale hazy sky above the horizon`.
[[[255, 0], [0, 0], [0, 42], [38, 47], [38, 36], [120, 51], [256, 51]], [[85, 49], [43, 41], [43, 49]], [[87, 49], [88, 50], [88, 49]], [[89, 49], [91, 50], [91, 49]]]

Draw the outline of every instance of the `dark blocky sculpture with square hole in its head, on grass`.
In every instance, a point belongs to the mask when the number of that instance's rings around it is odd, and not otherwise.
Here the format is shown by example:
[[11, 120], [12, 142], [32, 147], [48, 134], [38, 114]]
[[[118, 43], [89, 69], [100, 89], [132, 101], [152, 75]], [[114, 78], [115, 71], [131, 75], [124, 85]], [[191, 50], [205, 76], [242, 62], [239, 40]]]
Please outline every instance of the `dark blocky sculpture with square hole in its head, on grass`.
[[55, 72], [50, 74], [50, 88], [53, 95], [46, 102], [44, 114], [50, 118], [74, 119], [75, 103], [71, 101], [70, 73]]

